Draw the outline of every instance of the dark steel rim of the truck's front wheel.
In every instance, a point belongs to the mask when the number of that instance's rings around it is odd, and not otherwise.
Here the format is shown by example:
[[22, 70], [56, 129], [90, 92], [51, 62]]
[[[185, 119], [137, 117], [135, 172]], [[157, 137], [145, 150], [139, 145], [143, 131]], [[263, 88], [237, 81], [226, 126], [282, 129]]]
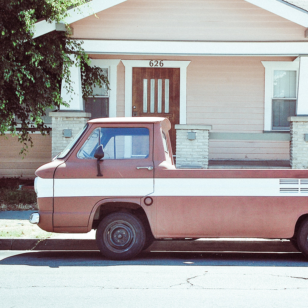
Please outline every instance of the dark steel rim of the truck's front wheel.
[[113, 252], [129, 250], [136, 241], [136, 231], [127, 221], [113, 221], [103, 233], [105, 245]]

